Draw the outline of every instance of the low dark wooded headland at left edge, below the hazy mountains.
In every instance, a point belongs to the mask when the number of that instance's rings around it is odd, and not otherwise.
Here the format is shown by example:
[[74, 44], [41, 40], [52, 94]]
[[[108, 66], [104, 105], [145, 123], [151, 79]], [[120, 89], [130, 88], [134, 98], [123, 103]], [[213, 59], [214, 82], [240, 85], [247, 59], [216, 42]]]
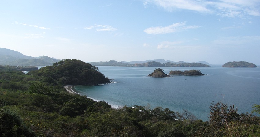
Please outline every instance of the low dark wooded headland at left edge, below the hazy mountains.
[[0, 65], [0, 72], [8, 72], [8, 71], [33, 71], [38, 70], [38, 67], [35, 66], [1, 66]]

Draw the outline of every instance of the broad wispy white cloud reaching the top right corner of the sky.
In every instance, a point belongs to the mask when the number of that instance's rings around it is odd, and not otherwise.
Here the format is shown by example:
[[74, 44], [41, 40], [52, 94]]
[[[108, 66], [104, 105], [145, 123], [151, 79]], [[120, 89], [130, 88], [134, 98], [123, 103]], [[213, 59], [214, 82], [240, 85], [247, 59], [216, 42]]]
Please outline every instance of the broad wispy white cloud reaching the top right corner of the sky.
[[168, 11], [176, 9], [192, 10], [201, 13], [215, 13], [223, 17], [260, 16], [259, 0], [145, 0]]

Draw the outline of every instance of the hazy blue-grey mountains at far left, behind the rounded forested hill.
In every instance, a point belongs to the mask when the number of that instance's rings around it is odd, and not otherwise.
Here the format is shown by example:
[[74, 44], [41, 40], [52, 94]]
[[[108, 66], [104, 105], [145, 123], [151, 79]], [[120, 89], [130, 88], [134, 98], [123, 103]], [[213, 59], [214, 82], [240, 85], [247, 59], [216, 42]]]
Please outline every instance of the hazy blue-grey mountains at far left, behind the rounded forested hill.
[[60, 59], [47, 56], [31, 57], [6, 48], [0, 48], [0, 65], [9, 66], [50, 66]]

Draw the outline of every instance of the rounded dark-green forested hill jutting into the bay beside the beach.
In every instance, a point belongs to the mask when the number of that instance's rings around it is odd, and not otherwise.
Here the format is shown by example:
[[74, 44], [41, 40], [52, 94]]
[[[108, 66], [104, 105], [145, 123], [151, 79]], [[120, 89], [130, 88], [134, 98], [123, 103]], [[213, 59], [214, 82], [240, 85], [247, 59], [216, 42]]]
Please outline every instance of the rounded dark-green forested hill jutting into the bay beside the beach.
[[49, 83], [53, 81], [62, 85], [84, 85], [109, 82], [108, 78], [98, 71], [98, 68], [89, 63], [76, 59], [65, 59], [53, 66], [46, 66], [38, 71], [28, 73], [33, 76], [42, 76]]

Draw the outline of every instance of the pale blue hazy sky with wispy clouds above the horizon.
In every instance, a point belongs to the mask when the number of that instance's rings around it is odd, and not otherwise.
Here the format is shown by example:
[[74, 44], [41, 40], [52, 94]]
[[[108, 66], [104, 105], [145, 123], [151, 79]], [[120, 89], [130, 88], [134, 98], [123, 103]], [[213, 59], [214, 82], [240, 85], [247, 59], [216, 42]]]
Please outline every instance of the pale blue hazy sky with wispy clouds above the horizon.
[[260, 1], [1, 0], [0, 48], [88, 62], [260, 64]]

